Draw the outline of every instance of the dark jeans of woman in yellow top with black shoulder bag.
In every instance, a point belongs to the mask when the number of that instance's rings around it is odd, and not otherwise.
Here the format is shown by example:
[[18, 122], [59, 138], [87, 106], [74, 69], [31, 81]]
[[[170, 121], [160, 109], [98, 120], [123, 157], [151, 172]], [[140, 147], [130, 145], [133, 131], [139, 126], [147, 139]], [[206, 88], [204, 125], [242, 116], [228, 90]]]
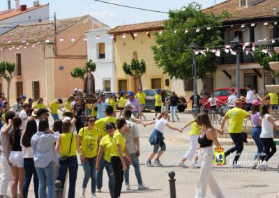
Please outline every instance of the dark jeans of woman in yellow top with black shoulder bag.
[[75, 197], [75, 183], [77, 181], [77, 156], [74, 155], [69, 158], [68, 165], [59, 165], [57, 180], [61, 181], [61, 189], [64, 189], [67, 170], [69, 169], [69, 191], [68, 198]]

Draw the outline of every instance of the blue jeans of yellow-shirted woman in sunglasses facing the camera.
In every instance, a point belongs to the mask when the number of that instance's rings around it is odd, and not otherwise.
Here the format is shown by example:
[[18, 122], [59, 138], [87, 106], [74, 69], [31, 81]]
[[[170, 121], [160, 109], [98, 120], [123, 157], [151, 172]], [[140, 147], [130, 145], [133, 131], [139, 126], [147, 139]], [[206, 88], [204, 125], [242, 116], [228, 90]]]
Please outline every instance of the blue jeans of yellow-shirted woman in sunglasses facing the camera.
[[96, 157], [85, 158], [85, 162], [82, 167], [84, 170], [82, 188], [87, 187], [89, 178], [91, 178], [91, 193], [96, 193]]

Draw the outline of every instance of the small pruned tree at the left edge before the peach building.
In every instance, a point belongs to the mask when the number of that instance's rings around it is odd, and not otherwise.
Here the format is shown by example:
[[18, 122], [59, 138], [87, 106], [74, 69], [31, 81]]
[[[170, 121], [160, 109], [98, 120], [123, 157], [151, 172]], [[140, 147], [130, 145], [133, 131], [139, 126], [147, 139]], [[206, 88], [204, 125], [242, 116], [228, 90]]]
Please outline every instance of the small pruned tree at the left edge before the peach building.
[[10, 103], [10, 82], [15, 72], [15, 63], [3, 61], [0, 63], [0, 77], [6, 79], [7, 82], [7, 100]]

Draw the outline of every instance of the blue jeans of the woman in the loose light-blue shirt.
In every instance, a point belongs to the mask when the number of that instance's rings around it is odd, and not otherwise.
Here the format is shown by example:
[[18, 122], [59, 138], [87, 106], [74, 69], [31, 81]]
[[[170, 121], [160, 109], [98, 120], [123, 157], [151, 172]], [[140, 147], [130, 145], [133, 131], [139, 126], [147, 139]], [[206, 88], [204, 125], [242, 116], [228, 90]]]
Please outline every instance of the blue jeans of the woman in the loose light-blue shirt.
[[[54, 171], [53, 164], [47, 165], [45, 168], [36, 167], [39, 178], [39, 197], [40, 198], [53, 198], [54, 197]], [[47, 181], [47, 185], [46, 185]], [[47, 188], [47, 189], [46, 189]]]

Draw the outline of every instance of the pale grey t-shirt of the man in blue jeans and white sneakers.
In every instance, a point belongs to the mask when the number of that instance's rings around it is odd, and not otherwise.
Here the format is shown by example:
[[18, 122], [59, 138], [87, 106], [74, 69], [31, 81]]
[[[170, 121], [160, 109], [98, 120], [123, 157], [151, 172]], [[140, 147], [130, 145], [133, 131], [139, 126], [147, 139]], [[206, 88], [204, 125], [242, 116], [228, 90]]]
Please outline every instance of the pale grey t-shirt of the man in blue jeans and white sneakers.
[[136, 123], [131, 121], [126, 121], [129, 132], [124, 135], [126, 139], [126, 146], [128, 148], [129, 153], [137, 153], [137, 147], [135, 145], [135, 138], [140, 137], [139, 128]]

